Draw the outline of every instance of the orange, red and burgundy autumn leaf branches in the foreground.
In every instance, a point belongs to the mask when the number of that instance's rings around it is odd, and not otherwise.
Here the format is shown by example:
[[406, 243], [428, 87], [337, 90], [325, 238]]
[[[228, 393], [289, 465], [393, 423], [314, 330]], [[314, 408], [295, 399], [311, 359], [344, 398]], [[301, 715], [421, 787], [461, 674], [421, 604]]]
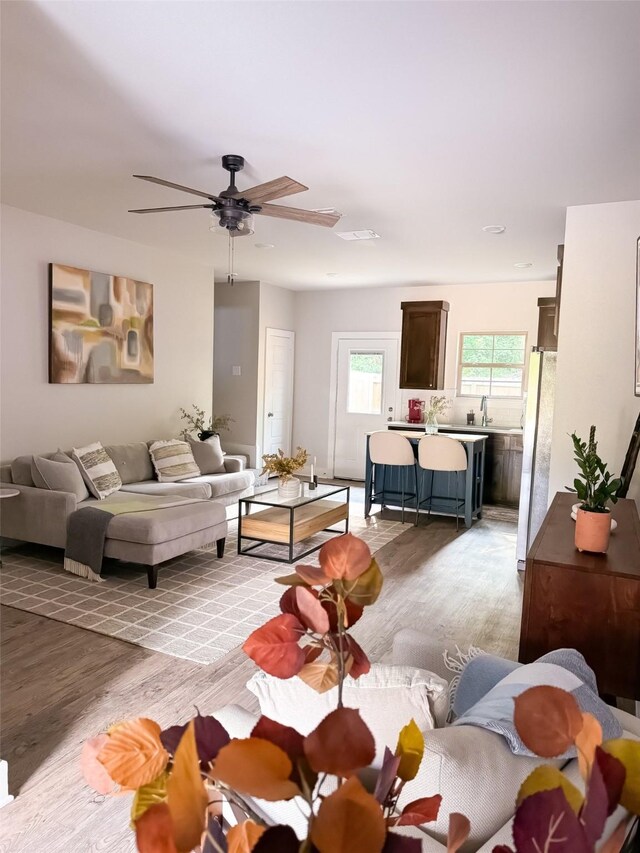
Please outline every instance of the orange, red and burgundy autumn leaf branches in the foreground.
[[[198, 714], [162, 730], [139, 718], [88, 741], [82, 765], [101, 794], [133, 791], [132, 826], [140, 853], [419, 853], [421, 841], [394, 832], [435, 820], [441, 797], [417, 799], [401, 812], [403, 786], [415, 778], [424, 739], [413, 720], [386, 750], [372, 791], [358, 777], [374, 758], [374, 740], [357, 710], [342, 705], [348, 673], [358, 678], [369, 660], [348, 633], [375, 603], [382, 573], [362, 540], [346, 534], [326, 543], [319, 566], [298, 566], [280, 578], [289, 587], [280, 615], [254, 631], [246, 653], [279, 678], [294, 675], [318, 691], [337, 686], [337, 708], [307, 737], [261, 717], [251, 736], [231, 739], [212, 716]], [[640, 813], [640, 742], [602, 743], [600, 725], [574, 698], [555, 687], [533, 687], [515, 700], [514, 720], [524, 743], [552, 758], [576, 746], [586, 783], [582, 793], [555, 766], [541, 765], [517, 794], [516, 853], [593, 853], [618, 803]], [[332, 786], [325, 786], [333, 778]], [[474, 780], [491, 785], [490, 779]], [[306, 838], [290, 826], [267, 826], [250, 798], [296, 798], [307, 819]], [[246, 819], [228, 827], [221, 802]], [[599, 846], [618, 853], [630, 816]], [[448, 853], [469, 833], [461, 814], [449, 818]], [[628, 848], [629, 850], [631, 848]], [[499, 845], [494, 853], [513, 853]]]

